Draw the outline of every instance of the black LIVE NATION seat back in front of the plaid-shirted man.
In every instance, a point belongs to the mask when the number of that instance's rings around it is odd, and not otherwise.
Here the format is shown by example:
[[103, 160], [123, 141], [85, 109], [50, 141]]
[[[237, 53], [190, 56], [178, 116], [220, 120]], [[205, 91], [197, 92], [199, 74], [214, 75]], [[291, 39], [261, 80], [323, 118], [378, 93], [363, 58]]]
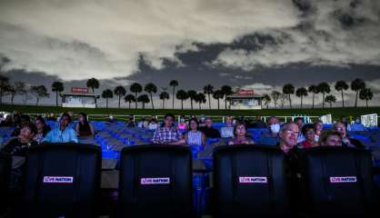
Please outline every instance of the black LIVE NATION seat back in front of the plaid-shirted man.
[[192, 194], [188, 146], [154, 144], [123, 149], [119, 217], [189, 217]]

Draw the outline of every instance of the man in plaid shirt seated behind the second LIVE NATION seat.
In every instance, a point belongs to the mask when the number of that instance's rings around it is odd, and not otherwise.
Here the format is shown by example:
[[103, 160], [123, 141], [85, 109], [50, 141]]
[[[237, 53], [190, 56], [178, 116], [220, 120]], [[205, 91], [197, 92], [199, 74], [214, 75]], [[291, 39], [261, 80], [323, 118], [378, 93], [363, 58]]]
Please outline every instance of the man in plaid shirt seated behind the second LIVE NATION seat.
[[177, 144], [181, 139], [181, 134], [177, 131], [173, 122], [175, 115], [165, 114], [164, 126], [158, 127], [153, 134], [152, 142], [154, 144]]

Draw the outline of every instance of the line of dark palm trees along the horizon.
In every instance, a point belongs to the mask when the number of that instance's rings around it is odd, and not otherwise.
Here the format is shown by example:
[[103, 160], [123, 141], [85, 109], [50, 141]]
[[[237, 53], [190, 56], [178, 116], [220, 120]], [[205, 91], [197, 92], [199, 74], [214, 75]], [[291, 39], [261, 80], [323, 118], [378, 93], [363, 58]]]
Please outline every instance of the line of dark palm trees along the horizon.
[[[193, 103], [198, 104], [199, 109], [201, 105], [208, 102], [208, 108], [211, 109], [211, 97], [217, 101], [217, 109], [220, 109], [220, 100], [225, 101], [225, 110], [227, 109], [226, 96], [229, 94], [234, 94], [233, 89], [230, 85], [223, 85], [219, 89], [215, 89], [212, 84], [206, 84], [203, 88], [203, 92], [196, 92], [195, 90], [185, 91], [184, 89], [175, 90], [179, 86], [178, 81], [172, 80], [169, 83], [172, 87], [172, 108], [175, 108], [175, 98], [181, 101], [181, 109], [184, 109], [184, 101], [190, 100], [191, 109], [194, 108]], [[91, 78], [86, 82], [86, 87], [90, 88], [93, 93], [95, 89], [100, 87], [100, 83], [97, 79]], [[58, 94], [65, 91], [65, 86], [62, 82], [55, 81], [51, 85], [52, 91], [55, 93], [55, 104], [58, 106]], [[347, 84], [345, 81], [337, 81], [335, 83], [335, 90], [341, 93], [342, 107], [345, 108], [345, 91], [351, 88], [355, 92], [355, 107], [357, 107], [358, 98], [365, 100], [365, 104], [368, 107], [368, 101], [372, 100], [374, 94], [370, 88], [365, 86], [365, 82], [362, 79], [355, 79], [351, 84]], [[155, 109], [155, 104], [153, 101], [153, 95], [158, 92], [158, 88], [154, 83], [148, 83], [144, 86], [139, 83], [134, 83], [129, 86], [130, 94], [127, 94], [127, 90], [124, 86], [118, 85], [114, 90], [105, 89], [101, 96], [105, 99], [105, 106], [108, 108], [108, 100], [116, 96], [118, 98], [118, 108], [121, 106], [121, 100], [124, 99], [125, 103], [128, 103], [129, 109], [131, 109], [131, 104], [135, 103], [135, 108], [137, 109], [137, 103], [142, 104], [142, 108], [145, 109], [145, 104], [151, 103], [152, 108]], [[145, 92], [145, 94], [142, 94]], [[273, 101], [275, 108], [278, 105], [283, 109], [285, 103], [288, 102], [289, 107], [293, 108], [291, 95], [295, 94], [300, 99], [300, 108], [303, 108], [303, 100], [309, 94], [312, 95], [313, 104], [312, 107], [315, 108], [315, 96], [317, 94], [322, 94], [322, 108], [325, 108], [325, 103], [332, 104], [336, 102], [336, 96], [331, 93], [331, 87], [327, 83], [311, 84], [306, 87], [298, 87], [295, 89], [293, 84], [285, 84], [283, 86], [282, 92], [272, 91], [270, 94], [263, 95], [263, 104], [266, 108], [269, 108], [269, 104]], [[32, 85], [27, 87], [23, 82], [15, 82], [11, 84], [9, 78], [0, 74], [0, 103], [2, 103], [3, 97], [10, 95], [11, 104], [14, 104], [14, 99], [16, 95], [23, 96], [23, 102], [26, 104], [28, 100], [31, 99], [31, 95], [35, 96], [38, 105], [41, 98], [48, 97], [50, 94], [47, 92], [45, 85]], [[167, 88], [161, 88], [158, 94], [159, 99], [162, 101], [162, 109], [165, 109], [165, 101], [170, 99], [170, 94], [167, 92]], [[208, 100], [208, 101], [207, 101]]]

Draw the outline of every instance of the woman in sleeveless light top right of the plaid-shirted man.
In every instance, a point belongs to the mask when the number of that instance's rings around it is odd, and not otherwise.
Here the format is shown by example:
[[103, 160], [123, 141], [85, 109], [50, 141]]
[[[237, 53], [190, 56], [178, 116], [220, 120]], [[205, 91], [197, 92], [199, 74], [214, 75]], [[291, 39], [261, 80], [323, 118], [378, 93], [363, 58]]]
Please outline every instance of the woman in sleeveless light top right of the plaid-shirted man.
[[178, 141], [178, 144], [188, 145], [205, 145], [205, 134], [198, 130], [198, 121], [196, 118], [191, 118], [189, 121], [189, 131], [185, 134], [185, 137]]

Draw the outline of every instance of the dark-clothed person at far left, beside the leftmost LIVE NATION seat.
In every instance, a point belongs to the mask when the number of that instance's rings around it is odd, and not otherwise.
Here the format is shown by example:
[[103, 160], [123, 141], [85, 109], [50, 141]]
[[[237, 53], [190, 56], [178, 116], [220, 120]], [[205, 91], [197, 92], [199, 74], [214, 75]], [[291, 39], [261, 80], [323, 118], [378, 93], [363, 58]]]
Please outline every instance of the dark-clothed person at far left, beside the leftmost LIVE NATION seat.
[[9, 143], [5, 144], [0, 150], [1, 152], [12, 156], [12, 171], [10, 179], [10, 188], [12, 190], [21, 190], [22, 188], [25, 156], [29, 147], [37, 144], [37, 142], [33, 140], [36, 133], [37, 129], [35, 124], [25, 124], [24, 127], [21, 128], [20, 134], [9, 141]]

